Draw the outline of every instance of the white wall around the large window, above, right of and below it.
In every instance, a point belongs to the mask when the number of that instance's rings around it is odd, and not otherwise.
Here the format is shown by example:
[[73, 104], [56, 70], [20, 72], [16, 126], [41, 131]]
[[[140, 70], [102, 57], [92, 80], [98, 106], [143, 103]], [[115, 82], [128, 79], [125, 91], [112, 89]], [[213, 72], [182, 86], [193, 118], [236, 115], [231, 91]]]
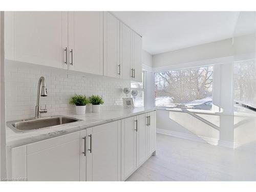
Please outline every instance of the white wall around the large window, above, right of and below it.
[[[214, 66], [213, 110], [222, 115], [206, 115], [200, 120], [187, 113], [157, 111], [157, 128], [167, 133], [208, 138], [208, 141], [233, 142], [233, 57], [232, 39], [211, 42], [177, 51], [153, 55], [153, 71]], [[214, 120], [219, 127], [207, 124]], [[231, 128], [230, 128], [231, 127]]]

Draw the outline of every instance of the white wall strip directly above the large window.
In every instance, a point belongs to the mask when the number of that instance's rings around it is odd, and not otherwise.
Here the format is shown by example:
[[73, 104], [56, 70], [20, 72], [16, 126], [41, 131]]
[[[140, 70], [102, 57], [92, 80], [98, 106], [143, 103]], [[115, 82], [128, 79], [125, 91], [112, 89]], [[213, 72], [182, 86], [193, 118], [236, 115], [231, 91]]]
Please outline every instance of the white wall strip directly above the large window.
[[232, 56], [231, 38], [153, 55], [153, 67], [176, 65], [184, 62], [226, 56]]

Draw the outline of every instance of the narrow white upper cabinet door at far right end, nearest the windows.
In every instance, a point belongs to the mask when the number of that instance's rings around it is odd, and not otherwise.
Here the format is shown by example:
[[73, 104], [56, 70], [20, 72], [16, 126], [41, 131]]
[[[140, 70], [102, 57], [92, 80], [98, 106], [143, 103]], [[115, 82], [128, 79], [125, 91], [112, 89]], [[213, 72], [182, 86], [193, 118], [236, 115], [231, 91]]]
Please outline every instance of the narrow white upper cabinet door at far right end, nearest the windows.
[[142, 70], [142, 60], [141, 60], [141, 50], [142, 50], [142, 37], [137, 33], [134, 33], [134, 78], [132, 80], [141, 82], [141, 70]]

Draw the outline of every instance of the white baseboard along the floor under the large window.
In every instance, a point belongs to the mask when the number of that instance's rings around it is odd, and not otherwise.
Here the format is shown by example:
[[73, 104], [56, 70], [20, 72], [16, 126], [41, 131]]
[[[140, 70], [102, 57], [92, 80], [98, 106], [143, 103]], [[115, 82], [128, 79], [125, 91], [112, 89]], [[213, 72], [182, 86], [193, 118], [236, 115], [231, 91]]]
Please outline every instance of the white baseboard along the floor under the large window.
[[182, 138], [182, 139], [197, 141], [197, 142], [201, 142], [201, 143], [209, 143], [211, 145], [219, 145], [219, 146], [224, 146], [224, 147], [228, 147], [228, 148], [234, 147], [234, 143], [229, 142], [229, 141], [223, 141], [223, 140], [218, 140], [218, 139], [213, 139], [213, 138], [179, 133], [179, 132], [174, 132], [174, 131], [169, 131], [169, 130], [164, 130], [164, 129], [157, 129], [157, 133], [169, 135], [169, 136], [173, 136], [173, 137], [178, 137], [178, 138]]

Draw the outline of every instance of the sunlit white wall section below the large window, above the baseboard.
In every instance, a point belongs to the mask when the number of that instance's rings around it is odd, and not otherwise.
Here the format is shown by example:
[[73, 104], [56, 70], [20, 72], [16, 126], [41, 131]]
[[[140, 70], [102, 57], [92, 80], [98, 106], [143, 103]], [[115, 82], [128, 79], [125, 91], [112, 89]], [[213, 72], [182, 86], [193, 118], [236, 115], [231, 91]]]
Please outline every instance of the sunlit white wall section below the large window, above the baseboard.
[[[194, 114], [195, 115], [195, 114]], [[157, 110], [157, 129], [168, 134], [198, 137], [202, 141], [218, 144], [233, 142], [233, 116], [216, 114], [196, 114]], [[211, 126], [210, 124], [214, 124]]]

